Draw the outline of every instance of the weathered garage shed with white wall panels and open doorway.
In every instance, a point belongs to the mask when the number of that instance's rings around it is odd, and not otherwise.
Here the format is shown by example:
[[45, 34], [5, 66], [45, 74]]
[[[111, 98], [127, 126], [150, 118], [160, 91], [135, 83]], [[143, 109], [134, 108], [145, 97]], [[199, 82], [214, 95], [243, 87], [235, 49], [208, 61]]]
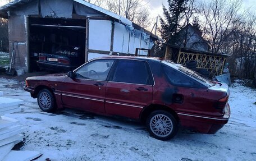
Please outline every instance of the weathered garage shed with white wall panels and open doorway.
[[0, 17], [8, 19], [15, 68], [28, 72], [36, 69], [39, 53], [52, 53], [63, 45], [80, 48], [84, 63], [112, 54], [150, 56], [159, 39], [130, 20], [83, 0], [15, 0], [0, 7]]

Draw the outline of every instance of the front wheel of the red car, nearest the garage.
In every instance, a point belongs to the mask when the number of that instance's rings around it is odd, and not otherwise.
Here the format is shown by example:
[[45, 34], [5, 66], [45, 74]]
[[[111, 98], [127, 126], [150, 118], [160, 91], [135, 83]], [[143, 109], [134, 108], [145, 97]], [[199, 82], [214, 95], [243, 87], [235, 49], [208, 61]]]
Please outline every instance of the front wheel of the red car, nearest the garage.
[[51, 91], [42, 89], [37, 95], [38, 105], [44, 112], [53, 112], [56, 110], [55, 99]]

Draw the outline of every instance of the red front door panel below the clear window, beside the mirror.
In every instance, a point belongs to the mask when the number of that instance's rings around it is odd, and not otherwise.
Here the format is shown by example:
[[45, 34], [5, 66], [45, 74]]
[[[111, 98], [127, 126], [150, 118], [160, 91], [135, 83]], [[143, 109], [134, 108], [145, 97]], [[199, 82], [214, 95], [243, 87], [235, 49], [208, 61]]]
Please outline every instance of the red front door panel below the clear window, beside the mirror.
[[[96, 86], [97, 82], [102, 86]], [[71, 79], [66, 77], [59, 90], [62, 95], [62, 104], [68, 108], [79, 107], [84, 111], [105, 113], [104, 99], [107, 81]]]

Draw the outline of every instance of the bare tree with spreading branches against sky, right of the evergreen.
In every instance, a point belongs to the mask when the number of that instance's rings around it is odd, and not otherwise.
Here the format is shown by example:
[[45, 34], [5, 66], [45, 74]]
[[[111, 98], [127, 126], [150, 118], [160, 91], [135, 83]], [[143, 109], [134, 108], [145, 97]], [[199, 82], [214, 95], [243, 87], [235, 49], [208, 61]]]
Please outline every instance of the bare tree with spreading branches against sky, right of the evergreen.
[[200, 15], [204, 19], [204, 38], [208, 40], [213, 53], [221, 51], [225, 40], [234, 30], [234, 22], [240, 18], [237, 12], [240, 10], [241, 2], [241, 0], [213, 0], [200, 4]]

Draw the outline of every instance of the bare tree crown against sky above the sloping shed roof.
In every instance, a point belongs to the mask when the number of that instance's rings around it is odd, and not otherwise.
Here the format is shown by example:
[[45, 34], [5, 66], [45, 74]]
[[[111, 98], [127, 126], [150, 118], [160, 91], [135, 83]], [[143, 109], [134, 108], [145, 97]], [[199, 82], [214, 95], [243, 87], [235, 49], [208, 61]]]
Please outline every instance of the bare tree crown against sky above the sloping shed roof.
[[149, 27], [151, 20], [148, 8], [143, 6], [141, 0], [107, 0], [107, 9], [124, 16], [141, 27]]

